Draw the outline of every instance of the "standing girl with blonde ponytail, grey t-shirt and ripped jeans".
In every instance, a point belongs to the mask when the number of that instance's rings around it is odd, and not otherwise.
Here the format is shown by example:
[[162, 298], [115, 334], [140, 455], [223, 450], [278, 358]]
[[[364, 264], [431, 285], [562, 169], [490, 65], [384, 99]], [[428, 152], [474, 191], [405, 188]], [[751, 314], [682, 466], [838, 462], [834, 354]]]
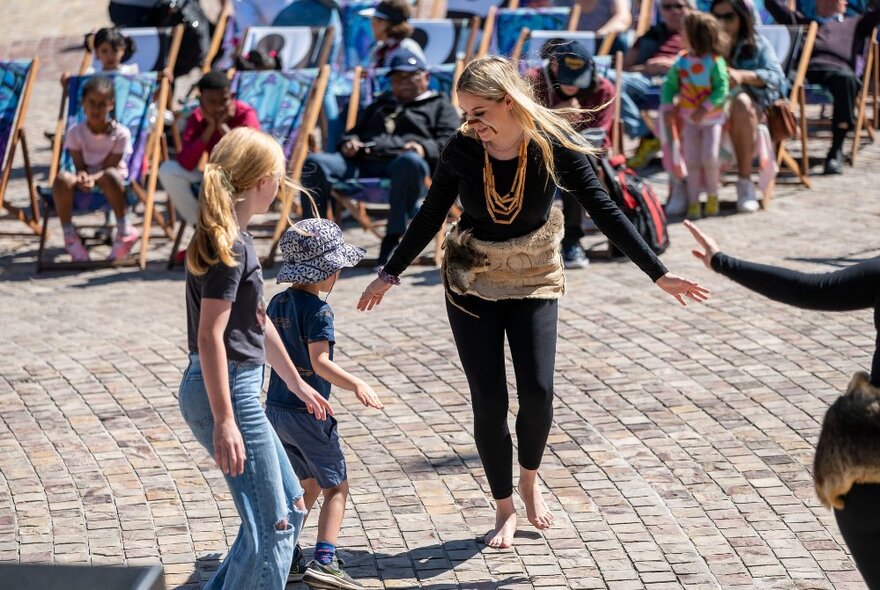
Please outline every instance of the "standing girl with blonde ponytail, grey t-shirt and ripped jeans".
[[260, 404], [265, 362], [315, 417], [332, 414], [266, 321], [263, 274], [247, 233], [251, 217], [275, 199], [284, 171], [272, 137], [246, 127], [230, 131], [205, 168], [187, 252], [189, 366], [180, 410], [226, 476], [241, 517], [209, 590], [284, 588], [302, 527], [303, 490]]

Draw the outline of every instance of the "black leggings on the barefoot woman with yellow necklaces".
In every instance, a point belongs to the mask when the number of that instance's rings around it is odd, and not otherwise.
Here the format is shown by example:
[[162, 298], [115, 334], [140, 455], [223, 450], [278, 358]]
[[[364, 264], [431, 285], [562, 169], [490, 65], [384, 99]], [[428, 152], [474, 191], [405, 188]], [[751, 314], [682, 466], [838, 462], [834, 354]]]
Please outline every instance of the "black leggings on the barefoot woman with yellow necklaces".
[[553, 372], [556, 363], [556, 299], [486, 301], [451, 295], [446, 310], [455, 345], [471, 390], [474, 439], [496, 500], [513, 494], [513, 444], [507, 427], [507, 378], [504, 335], [510, 346], [519, 413], [516, 438], [519, 464], [541, 466], [553, 421]]

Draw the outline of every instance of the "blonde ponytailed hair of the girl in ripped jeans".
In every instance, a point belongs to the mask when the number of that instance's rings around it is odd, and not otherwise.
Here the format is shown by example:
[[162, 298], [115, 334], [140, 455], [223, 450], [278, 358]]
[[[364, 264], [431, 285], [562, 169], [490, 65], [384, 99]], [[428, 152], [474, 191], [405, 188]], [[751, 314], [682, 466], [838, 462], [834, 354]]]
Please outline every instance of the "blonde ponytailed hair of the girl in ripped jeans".
[[284, 152], [262, 131], [237, 127], [214, 147], [199, 192], [196, 233], [186, 253], [189, 272], [201, 276], [216, 264], [236, 265], [232, 247], [240, 230], [235, 204], [272, 174], [284, 176]]

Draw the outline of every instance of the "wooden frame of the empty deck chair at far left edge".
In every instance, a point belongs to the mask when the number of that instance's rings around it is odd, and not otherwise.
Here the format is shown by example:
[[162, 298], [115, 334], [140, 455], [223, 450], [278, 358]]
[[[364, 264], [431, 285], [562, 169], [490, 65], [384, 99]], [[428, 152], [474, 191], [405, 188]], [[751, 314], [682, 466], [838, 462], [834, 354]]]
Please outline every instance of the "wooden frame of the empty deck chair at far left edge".
[[[10, 217], [18, 219], [30, 228], [30, 232], [11, 232], [12, 235], [39, 235], [40, 233], [40, 206], [39, 197], [37, 195], [37, 187], [34, 183], [34, 171], [31, 168], [30, 151], [28, 150], [27, 137], [24, 132], [24, 119], [27, 116], [28, 106], [31, 101], [31, 91], [34, 88], [34, 80], [37, 78], [37, 72], [40, 70], [40, 58], [34, 56], [31, 60], [28, 75], [22, 86], [21, 97], [18, 101], [18, 109], [12, 120], [12, 132], [10, 133], [8, 150], [6, 153], [6, 161], [0, 162], [0, 209], [5, 209]], [[31, 203], [31, 211], [27, 212], [19, 207], [10, 205], [6, 202], [6, 189], [9, 186], [9, 177], [12, 174], [12, 165], [15, 160], [15, 151], [21, 144], [21, 155], [24, 160], [24, 173], [28, 184], [28, 194]], [[3, 235], [10, 235], [4, 232]]]

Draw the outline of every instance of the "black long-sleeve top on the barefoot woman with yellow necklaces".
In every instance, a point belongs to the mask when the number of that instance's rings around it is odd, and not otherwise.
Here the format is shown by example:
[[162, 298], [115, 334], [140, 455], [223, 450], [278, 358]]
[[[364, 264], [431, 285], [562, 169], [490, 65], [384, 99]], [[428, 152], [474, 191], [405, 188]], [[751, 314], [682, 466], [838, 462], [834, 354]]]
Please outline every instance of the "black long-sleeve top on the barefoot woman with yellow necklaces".
[[[502, 242], [523, 236], [547, 222], [556, 185], [546, 173], [537, 145], [534, 142], [529, 144], [523, 206], [510, 225], [495, 223], [486, 209], [483, 150], [482, 142], [467, 137], [460, 131], [449, 139], [434, 171], [428, 196], [394, 255], [385, 265], [385, 272], [397, 276], [409, 266], [440, 230], [456, 196], [461, 198], [464, 209], [460, 226], [471, 229], [474, 237], [479, 240]], [[563, 185], [560, 188], [583, 205], [602, 233], [651, 277], [651, 280], [656, 281], [666, 274], [666, 267], [605, 192], [587, 157], [554, 144], [553, 159], [556, 174]], [[499, 194], [506, 194], [513, 184], [517, 158], [490, 158], [490, 161], [496, 190]]]

